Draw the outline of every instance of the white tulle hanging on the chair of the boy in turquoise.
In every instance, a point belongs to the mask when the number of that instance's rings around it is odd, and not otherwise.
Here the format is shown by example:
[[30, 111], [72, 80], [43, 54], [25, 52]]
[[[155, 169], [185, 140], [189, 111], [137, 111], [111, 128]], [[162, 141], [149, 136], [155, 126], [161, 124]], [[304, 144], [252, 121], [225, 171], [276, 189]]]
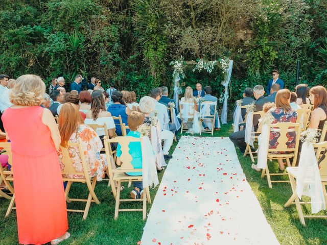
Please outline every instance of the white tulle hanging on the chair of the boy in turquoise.
[[159, 184], [157, 169], [155, 166], [155, 154], [152, 150], [151, 141], [148, 136], [142, 139], [142, 175], [143, 188], [156, 187]]

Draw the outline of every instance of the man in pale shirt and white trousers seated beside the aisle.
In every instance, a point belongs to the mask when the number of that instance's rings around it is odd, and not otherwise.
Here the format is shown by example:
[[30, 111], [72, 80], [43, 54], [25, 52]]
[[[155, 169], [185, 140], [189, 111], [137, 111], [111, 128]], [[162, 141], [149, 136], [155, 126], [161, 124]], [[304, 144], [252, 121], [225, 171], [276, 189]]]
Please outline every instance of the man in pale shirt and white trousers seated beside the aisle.
[[162, 152], [164, 153], [165, 159], [171, 159], [172, 156], [169, 154], [169, 149], [171, 148], [174, 140], [174, 133], [169, 131], [169, 116], [167, 107], [161, 103], [160, 100], [161, 91], [159, 88], [151, 89], [150, 96], [156, 100], [155, 110], [158, 112], [158, 120], [160, 122], [161, 128], [161, 139], [164, 140], [164, 148], [162, 148]]

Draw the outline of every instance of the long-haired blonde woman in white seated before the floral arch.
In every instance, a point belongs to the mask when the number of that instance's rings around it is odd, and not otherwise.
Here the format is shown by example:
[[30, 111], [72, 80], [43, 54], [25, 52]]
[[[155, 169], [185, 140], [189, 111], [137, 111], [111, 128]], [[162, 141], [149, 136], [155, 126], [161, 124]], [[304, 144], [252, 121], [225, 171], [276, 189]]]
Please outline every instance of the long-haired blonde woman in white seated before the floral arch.
[[182, 120], [183, 128], [188, 128], [187, 133], [199, 134], [199, 110], [196, 97], [193, 96], [193, 89], [189, 86], [185, 88], [184, 97], [180, 99], [180, 119]]

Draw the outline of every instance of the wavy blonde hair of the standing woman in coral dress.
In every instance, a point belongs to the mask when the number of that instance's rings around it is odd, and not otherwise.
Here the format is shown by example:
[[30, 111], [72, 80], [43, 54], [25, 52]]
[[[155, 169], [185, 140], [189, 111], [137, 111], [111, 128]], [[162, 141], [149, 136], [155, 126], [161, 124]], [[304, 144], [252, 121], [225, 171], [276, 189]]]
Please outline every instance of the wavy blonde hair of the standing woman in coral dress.
[[10, 91], [10, 102], [16, 106], [39, 106], [43, 101], [45, 84], [37, 75], [22, 75]]

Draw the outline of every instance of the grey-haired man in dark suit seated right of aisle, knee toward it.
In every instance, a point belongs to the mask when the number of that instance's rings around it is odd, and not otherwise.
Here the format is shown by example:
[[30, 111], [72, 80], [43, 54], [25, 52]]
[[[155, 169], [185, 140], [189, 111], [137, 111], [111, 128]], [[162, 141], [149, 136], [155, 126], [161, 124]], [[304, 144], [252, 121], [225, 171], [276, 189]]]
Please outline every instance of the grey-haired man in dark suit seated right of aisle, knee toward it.
[[[267, 98], [264, 96], [264, 94], [265, 94], [265, 89], [264, 89], [264, 87], [262, 85], [255, 85], [254, 86], [253, 96], [256, 99], [254, 112], [262, 111], [264, 104], [268, 103]], [[260, 118], [259, 115], [254, 115], [253, 116], [254, 131], [258, 130], [259, 118]], [[245, 149], [246, 149], [246, 143], [244, 141], [245, 140], [245, 130], [241, 130], [241, 131], [230, 134], [229, 139], [244, 154]], [[251, 150], [254, 150], [254, 149], [251, 149]]]

